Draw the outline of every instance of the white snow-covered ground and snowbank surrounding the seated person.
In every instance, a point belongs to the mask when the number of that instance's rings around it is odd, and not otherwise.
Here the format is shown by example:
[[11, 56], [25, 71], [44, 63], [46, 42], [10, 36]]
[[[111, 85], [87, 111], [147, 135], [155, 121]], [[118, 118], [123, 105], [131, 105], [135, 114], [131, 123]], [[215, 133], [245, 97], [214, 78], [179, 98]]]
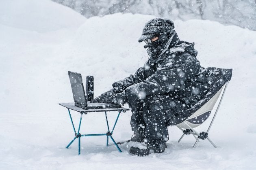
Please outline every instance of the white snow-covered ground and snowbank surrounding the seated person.
[[[123, 144], [119, 153], [106, 137], [74, 138], [67, 110], [72, 102], [67, 71], [93, 75], [95, 96], [133, 74], [147, 60], [137, 42], [154, 16], [115, 14], [85, 19], [50, 0], [0, 1], [0, 169], [256, 169], [256, 32], [213, 21], [176, 20], [181, 40], [195, 42], [204, 67], [233, 68], [232, 81], [208, 141], [191, 149], [193, 136], [169, 127], [162, 154], [137, 157]], [[75, 125], [79, 114], [72, 112]], [[122, 113], [113, 137], [127, 140], [130, 111]], [[117, 113], [109, 113], [113, 121]], [[206, 130], [209, 120], [198, 131]], [[104, 133], [104, 113], [84, 116], [81, 133]]]

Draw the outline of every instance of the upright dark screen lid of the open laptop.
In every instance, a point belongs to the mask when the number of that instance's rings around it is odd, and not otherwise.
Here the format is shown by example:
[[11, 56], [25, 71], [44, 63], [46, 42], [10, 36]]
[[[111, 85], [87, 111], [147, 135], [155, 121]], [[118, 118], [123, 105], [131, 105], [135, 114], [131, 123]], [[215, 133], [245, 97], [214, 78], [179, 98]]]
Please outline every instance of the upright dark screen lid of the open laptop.
[[87, 106], [87, 101], [85, 98], [85, 89], [82, 83], [81, 74], [69, 71], [68, 75], [75, 103]]

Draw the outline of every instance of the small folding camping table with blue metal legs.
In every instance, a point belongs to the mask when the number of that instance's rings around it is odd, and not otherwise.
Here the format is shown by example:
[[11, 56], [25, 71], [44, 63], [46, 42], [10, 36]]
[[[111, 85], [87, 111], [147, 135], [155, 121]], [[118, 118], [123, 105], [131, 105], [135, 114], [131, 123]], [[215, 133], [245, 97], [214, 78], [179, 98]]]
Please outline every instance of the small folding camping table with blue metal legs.
[[[115, 146], [117, 147], [117, 150], [119, 152], [122, 152], [121, 149], [118, 147], [117, 143], [115, 142], [115, 140], [112, 137], [113, 131], [115, 129], [115, 125], [117, 124], [117, 120], [119, 118], [119, 115], [121, 112], [126, 112], [126, 110], [130, 110], [128, 108], [124, 108], [124, 107], [120, 107], [120, 108], [102, 108], [102, 109], [83, 109], [80, 107], [75, 106], [75, 103], [59, 103], [61, 106], [64, 106], [65, 108], [67, 108], [68, 113], [69, 113], [69, 117], [73, 126], [73, 130], [75, 132], [75, 137], [73, 140], [71, 140], [71, 142], [67, 145], [66, 148], [68, 148], [73, 142], [74, 140], [76, 140], [78, 138], [78, 155], [80, 155], [80, 138], [82, 136], [106, 136], [106, 146], [108, 146], [108, 137], [111, 138], [111, 140], [113, 141], [113, 143], [115, 144]], [[75, 110], [77, 112], [79, 112], [81, 114], [80, 116], [80, 122], [79, 122], [79, 126], [78, 126], [78, 131], [76, 132], [76, 129], [74, 127], [74, 123], [70, 114], [70, 110]], [[108, 117], [107, 117], [107, 113], [106, 112], [111, 112], [111, 111], [118, 111], [118, 115], [117, 115], [117, 119], [115, 120], [115, 124], [112, 128], [112, 130], [109, 130], [109, 125], [108, 125]], [[80, 134], [80, 125], [81, 125], [81, 121], [82, 121], [82, 115], [83, 114], [87, 114], [89, 112], [105, 112], [105, 117], [106, 117], [106, 124], [108, 127], [108, 131], [105, 134]]]

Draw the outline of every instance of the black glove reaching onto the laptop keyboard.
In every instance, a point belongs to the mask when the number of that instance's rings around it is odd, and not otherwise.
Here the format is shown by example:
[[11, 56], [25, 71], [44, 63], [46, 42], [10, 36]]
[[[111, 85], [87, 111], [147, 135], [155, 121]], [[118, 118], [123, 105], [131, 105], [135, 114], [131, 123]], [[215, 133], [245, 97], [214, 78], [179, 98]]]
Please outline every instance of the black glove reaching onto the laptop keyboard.
[[[111, 91], [111, 90], [110, 90]], [[109, 91], [103, 93], [97, 98], [91, 100], [91, 103], [113, 103], [113, 104], [124, 104], [126, 102], [125, 93], [111, 94]]]

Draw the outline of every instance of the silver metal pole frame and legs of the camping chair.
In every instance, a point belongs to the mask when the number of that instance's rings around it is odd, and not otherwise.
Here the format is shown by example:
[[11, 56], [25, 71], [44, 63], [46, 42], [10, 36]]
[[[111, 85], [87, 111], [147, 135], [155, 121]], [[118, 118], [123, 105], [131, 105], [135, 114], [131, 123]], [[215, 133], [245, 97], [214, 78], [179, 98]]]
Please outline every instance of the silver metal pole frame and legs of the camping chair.
[[[180, 139], [178, 140], [178, 142], [180, 142], [180, 141], [182, 140], [182, 138], [185, 136], [185, 134], [186, 134], [186, 135], [192, 134], [192, 135], [195, 137], [195, 139], [196, 139], [195, 144], [193, 145], [192, 148], [194, 148], [194, 147], [197, 145], [197, 143], [199, 142], [200, 139], [202, 139], [202, 140], [207, 139], [207, 140], [213, 145], [213, 147], [217, 148], [217, 146], [213, 143], [213, 141], [210, 140], [210, 138], [208, 137], [208, 133], [209, 133], [209, 131], [210, 131], [210, 128], [211, 128], [212, 125], [213, 125], [213, 121], [215, 120], [215, 117], [216, 117], [217, 112], [218, 112], [218, 110], [219, 110], [219, 107], [220, 107], [220, 105], [221, 105], [221, 102], [222, 102], [223, 96], [224, 96], [224, 94], [225, 94], [225, 91], [226, 91], [226, 89], [227, 89], [228, 83], [229, 83], [229, 82], [225, 83], [225, 87], [224, 87], [224, 90], [223, 90], [223, 92], [222, 92], [221, 99], [220, 99], [220, 101], [219, 101], [219, 104], [218, 104], [218, 106], [217, 106], [217, 109], [215, 110], [213, 119], [212, 119], [212, 121], [210, 122], [210, 125], [209, 125], [209, 127], [208, 127], [208, 130], [207, 130], [206, 132], [198, 133], [193, 127], [191, 127], [191, 126], [189, 125], [189, 122], [188, 122], [187, 120], [185, 120], [185, 121], [183, 121], [182, 123], [184, 123], [184, 125], [185, 125], [186, 127], [188, 127], [188, 128], [187, 128], [187, 129], [182, 129], [181, 127], [178, 127], [178, 128], [183, 132], [183, 134], [182, 134], [182, 136], [180, 137]], [[197, 137], [196, 137], [196, 136], [197, 136]]]

